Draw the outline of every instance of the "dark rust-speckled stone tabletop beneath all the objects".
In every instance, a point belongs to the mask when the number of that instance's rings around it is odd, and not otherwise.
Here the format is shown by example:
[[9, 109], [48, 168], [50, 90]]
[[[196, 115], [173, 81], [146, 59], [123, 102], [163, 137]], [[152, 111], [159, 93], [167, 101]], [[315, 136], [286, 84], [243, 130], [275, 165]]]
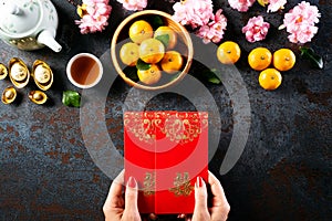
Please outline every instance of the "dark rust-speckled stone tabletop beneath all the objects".
[[[102, 220], [102, 206], [111, 179], [92, 161], [80, 128], [80, 109], [63, 106], [63, 90], [76, 90], [65, 76], [69, 59], [79, 52], [101, 56], [108, 50], [115, 28], [132, 12], [115, 0], [110, 25], [102, 33], [82, 35], [74, 20], [75, 7], [65, 0], [52, 1], [60, 17], [56, 39], [63, 45], [60, 53], [49, 49], [18, 51], [0, 43], [0, 62], [13, 56], [31, 65], [35, 59], [53, 69], [54, 85], [48, 92], [50, 101], [38, 106], [28, 98], [35, 88], [32, 83], [19, 90], [13, 105], [0, 104], [0, 219], [1, 220]], [[76, 1], [77, 3], [79, 1]], [[237, 64], [246, 83], [251, 128], [246, 149], [237, 165], [225, 176], [218, 171], [232, 136], [232, 103], [222, 85], [205, 83], [220, 109], [221, 137], [209, 169], [220, 179], [231, 212], [229, 220], [331, 220], [331, 115], [332, 115], [332, 2], [311, 0], [322, 18], [319, 33], [308, 46], [324, 59], [323, 70], [312, 67], [299, 54], [299, 45], [278, 31], [283, 13], [298, 2], [289, 0], [282, 12], [266, 13], [257, 3], [246, 13], [230, 9], [226, 0], [214, 1], [228, 18], [225, 40], [239, 43], [242, 56]], [[149, 1], [148, 9], [173, 13], [172, 2]], [[271, 23], [268, 38], [248, 43], [241, 27], [257, 14]], [[258, 85], [258, 72], [249, 69], [247, 55], [257, 46], [271, 51], [290, 48], [297, 54], [295, 66], [283, 73], [283, 83], [274, 92]], [[199, 51], [196, 51], [199, 53]], [[215, 59], [215, 52], [208, 56]], [[111, 62], [111, 61], [110, 61]], [[191, 74], [197, 74], [193, 66]], [[0, 82], [1, 91], [10, 85]], [[122, 149], [122, 105], [129, 91], [120, 77], [113, 84], [105, 114], [110, 136]], [[199, 96], [199, 94], [197, 94]], [[138, 98], [139, 99], [139, 98]], [[147, 109], [194, 109], [190, 102], [176, 94], [162, 94], [152, 99]]]

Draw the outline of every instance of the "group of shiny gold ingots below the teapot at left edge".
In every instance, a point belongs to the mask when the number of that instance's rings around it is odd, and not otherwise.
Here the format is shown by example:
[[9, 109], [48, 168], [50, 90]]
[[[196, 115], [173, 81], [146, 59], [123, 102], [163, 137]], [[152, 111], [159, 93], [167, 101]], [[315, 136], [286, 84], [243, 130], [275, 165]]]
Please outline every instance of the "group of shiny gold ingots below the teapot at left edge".
[[[32, 65], [32, 72], [27, 64], [18, 59], [13, 57], [9, 62], [9, 66], [0, 63], [0, 80], [4, 80], [9, 75], [9, 78], [13, 86], [4, 88], [2, 92], [1, 101], [3, 104], [11, 104], [17, 98], [17, 88], [23, 88], [28, 85], [30, 76], [34, 80], [35, 85], [41, 91], [31, 91], [29, 98], [35, 104], [44, 104], [48, 99], [48, 95], [44, 93], [48, 91], [53, 83], [53, 72], [51, 67], [41, 60], [35, 60]], [[44, 92], [42, 92], [44, 91]]]

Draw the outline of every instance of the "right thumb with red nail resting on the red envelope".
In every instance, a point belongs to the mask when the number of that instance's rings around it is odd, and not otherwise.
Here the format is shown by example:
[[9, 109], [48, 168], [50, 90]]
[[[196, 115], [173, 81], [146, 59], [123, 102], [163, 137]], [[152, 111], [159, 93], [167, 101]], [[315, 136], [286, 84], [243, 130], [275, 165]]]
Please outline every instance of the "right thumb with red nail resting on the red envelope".
[[195, 183], [195, 213], [206, 213], [208, 211], [207, 207], [207, 189], [205, 181], [201, 177], [196, 178]]

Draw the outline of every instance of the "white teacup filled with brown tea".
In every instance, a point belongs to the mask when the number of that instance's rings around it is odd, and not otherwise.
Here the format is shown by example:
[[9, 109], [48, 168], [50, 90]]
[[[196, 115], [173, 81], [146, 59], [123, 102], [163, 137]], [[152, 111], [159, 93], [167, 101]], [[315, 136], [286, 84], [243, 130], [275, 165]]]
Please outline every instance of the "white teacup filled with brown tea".
[[95, 55], [91, 53], [80, 53], [69, 61], [66, 65], [66, 76], [76, 87], [91, 88], [101, 81], [103, 76], [103, 65]]

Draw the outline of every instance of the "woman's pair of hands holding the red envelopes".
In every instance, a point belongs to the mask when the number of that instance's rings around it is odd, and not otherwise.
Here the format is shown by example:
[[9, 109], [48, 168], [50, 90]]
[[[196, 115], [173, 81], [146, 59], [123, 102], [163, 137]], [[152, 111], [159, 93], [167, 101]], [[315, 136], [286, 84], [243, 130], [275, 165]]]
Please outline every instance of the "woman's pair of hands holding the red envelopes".
[[[208, 182], [212, 192], [212, 207], [207, 204], [207, 188], [205, 181], [197, 177], [195, 183], [195, 209], [190, 221], [225, 221], [230, 207], [227, 202], [220, 181], [209, 171]], [[113, 180], [103, 211], [106, 221], [142, 221], [137, 207], [137, 182], [129, 177], [126, 183], [125, 199], [123, 198], [124, 170]], [[185, 215], [179, 215], [184, 218]], [[151, 214], [149, 218], [154, 218]]]

